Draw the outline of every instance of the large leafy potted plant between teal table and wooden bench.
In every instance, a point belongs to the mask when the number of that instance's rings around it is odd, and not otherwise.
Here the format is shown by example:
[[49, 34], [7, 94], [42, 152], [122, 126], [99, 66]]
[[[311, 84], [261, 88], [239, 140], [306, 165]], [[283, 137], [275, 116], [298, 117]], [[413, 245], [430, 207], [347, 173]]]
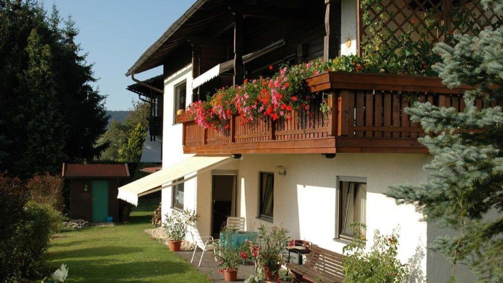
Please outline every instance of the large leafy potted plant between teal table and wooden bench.
[[286, 247], [290, 243], [288, 229], [273, 226], [267, 229], [265, 225], [259, 228], [255, 242], [248, 242], [248, 255], [255, 258], [257, 272], [264, 274], [265, 280], [279, 281], [280, 267], [287, 258]]

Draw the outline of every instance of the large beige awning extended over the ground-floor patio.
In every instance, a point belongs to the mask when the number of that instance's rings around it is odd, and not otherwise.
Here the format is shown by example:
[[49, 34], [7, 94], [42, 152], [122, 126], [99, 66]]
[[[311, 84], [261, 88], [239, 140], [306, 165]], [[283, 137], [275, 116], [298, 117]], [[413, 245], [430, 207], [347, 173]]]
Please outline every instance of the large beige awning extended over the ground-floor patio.
[[[163, 168], [155, 173], [119, 187], [117, 198], [131, 204], [138, 205], [138, 197], [163, 188], [188, 181], [198, 174], [215, 166], [232, 161], [232, 156], [192, 156], [170, 167]], [[196, 173], [196, 174], [193, 174]], [[191, 175], [193, 174], [193, 175]], [[174, 182], [184, 176], [191, 175], [182, 181]]]

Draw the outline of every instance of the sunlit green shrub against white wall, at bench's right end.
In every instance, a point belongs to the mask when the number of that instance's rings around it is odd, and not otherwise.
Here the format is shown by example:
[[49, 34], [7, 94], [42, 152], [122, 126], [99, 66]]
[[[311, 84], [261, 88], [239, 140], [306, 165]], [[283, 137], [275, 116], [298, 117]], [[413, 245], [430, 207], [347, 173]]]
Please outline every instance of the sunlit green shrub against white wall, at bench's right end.
[[365, 251], [365, 230], [363, 224], [353, 224], [355, 238], [344, 247], [345, 283], [405, 283], [408, 282], [408, 267], [396, 258], [398, 234], [396, 230], [389, 236], [374, 233], [374, 244]]

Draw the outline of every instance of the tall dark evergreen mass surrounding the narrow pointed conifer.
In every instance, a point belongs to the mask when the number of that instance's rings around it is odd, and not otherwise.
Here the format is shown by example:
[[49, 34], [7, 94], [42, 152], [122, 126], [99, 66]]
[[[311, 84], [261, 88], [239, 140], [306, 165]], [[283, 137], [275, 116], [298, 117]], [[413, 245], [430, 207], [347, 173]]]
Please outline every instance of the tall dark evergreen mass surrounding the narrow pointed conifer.
[[[106, 148], [106, 144], [96, 146], [107, 124], [103, 104], [105, 96], [91, 86], [96, 82], [92, 64], [87, 63], [87, 54], [74, 42], [78, 34], [74, 25], [71, 18], [61, 23], [55, 7], [47, 17], [46, 11], [35, 0], [0, 0], [0, 134], [6, 141], [0, 145], [0, 152], [9, 155], [5, 162], [0, 163], [0, 171], [8, 170], [12, 175], [35, 173], [30, 172], [30, 167], [20, 172], [20, 167], [15, 166], [22, 162], [27, 164], [27, 160], [20, 159], [30, 158], [25, 154], [30, 135], [26, 128], [28, 124], [16, 119], [26, 114], [23, 109], [30, 102], [18, 95], [16, 90], [22, 87], [20, 74], [28, 70], [29, 57], [25, 49], [34, 28], [40, 44], [49, 45], [52, 55], [50, 69], [58, 102], [55, 107], [66, 128], [62, 151], [67, 161], [91, 160]], [[58, 171], [59, 168], [51, 173]]]

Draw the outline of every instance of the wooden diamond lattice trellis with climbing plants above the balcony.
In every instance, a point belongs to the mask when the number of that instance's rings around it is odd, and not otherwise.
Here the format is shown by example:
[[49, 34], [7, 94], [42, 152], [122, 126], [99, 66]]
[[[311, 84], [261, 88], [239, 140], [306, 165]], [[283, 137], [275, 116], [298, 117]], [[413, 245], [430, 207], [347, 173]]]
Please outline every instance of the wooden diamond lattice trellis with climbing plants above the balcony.
[[[371, 25], [376, 29], [378, 22], [382, 22], [381, 29], [387, 28], [391, 31], [391, 35], [387, 36], [396, 38], [406, 33], [412, 24], [418, 25], [427, 33], [428, 40], [433, 42], [443, 40], [445, 32], [477, 34], [482, 29], [494, 29], [503, 22], [502, 13], [484, 11], [480, 0], [376, 0], [372, 5], [363, 8], [368, 14], [368, 21], [362, 19], [364, 11], [360, 1], [359, 7], [359, 42], [364, 38], [376, 36], [372, 34]], [[427, 24], [428, 21], [430, 25]], [[431, 28], [432, 25], [436, 28]], [[379, 29], [377, 26], [377, 31]], [[377, 34], [383, 36], [379, 32]], [[411, 40], [416, 37], [417, 34], [413, 33]], [[389, 40], [381, 39], [383, 42]]]

